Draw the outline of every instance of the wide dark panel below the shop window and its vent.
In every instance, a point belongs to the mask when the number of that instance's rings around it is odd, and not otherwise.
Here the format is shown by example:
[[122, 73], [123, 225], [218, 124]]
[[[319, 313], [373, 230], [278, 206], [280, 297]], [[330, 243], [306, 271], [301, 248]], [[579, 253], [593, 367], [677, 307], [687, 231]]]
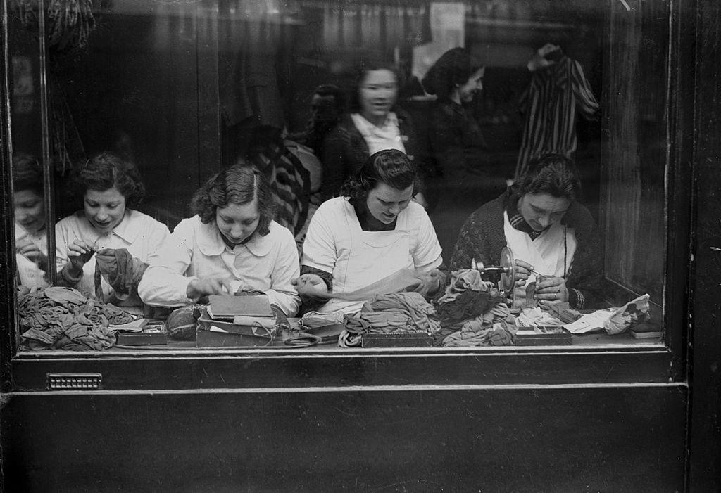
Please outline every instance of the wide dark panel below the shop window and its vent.
[[21, 394], [24, 492], [677, 492], [683, 386]]

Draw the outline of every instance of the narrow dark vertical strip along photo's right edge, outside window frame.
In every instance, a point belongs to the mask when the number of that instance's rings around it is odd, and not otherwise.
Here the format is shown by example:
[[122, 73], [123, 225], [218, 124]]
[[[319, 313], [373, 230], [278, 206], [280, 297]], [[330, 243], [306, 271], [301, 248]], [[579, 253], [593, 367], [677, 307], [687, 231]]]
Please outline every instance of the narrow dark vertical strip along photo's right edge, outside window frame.
[[691, 330], [691, 492], [721, 491], [721, 6], [696, 17], [696, 245]]

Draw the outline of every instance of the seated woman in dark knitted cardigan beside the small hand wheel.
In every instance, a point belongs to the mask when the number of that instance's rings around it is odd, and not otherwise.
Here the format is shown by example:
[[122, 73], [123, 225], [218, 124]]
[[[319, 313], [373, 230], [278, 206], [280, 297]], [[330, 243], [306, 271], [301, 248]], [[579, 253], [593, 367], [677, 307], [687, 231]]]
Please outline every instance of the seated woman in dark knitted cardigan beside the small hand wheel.
[[525, 300], [526, 281], [536, 281], [534, 299], [541, 307], [558, 302], [575, 309], [593, 307], [602, 288], [602, 245], [579, 196], [578, 171], [569, 158], [536, 158], [503, 195], [469, 216], [451, 270], [469, 268], [472, 259], [497, 265], [501, 250], [508, 246], [518, 265], [517, 303]]

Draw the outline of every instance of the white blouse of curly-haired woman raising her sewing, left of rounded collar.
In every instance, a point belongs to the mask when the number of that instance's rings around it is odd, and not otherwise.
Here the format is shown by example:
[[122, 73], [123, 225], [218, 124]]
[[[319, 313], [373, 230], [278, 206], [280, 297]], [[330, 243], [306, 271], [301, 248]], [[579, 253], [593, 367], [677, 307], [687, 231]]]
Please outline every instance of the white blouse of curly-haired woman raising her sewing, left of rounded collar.
[[[58, 272], [68, 263], [68, 245], [75, 240], [84, 240], [95, 244], [99, 250], [102, 248], [125, 248], [135, 258], [149, 263], [156, 250], [169, 237], [168, 227], [162, 222], [154, 220], [147, 214], [125, 209], [125, 216], [114, 230], [102, 233], [96, 230], [85, 217], [83, 211], [63, 218], [55, 226], [56, 255]], [[136, 307], [135, 312], [141, 312], [143, 302], [136, 290], [128, 297], [120, 299], [105, 279], [101, 281], [103, 302], [112, 302], [124, 309]], [[74, 286], [89, 298], [95, 298], [95, 255], [83, 266], [83, 276]], [[133, 311], [133, 310], [130, 310]]]

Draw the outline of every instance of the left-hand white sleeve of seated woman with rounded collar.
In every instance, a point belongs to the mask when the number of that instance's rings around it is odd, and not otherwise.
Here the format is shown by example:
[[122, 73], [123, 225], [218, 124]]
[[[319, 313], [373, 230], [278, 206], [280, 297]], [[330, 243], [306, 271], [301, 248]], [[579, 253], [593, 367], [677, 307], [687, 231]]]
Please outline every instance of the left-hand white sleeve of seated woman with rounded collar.
[[186, 277], [193, 260], [195, 230], [190, 220], [182, 220], [163, 245], [149, 258], [150, 266], [138, 284], [143, 303], [161, 307], [179, 307], [193, 303], [187, 297], [187, 285], [196, 277]]

